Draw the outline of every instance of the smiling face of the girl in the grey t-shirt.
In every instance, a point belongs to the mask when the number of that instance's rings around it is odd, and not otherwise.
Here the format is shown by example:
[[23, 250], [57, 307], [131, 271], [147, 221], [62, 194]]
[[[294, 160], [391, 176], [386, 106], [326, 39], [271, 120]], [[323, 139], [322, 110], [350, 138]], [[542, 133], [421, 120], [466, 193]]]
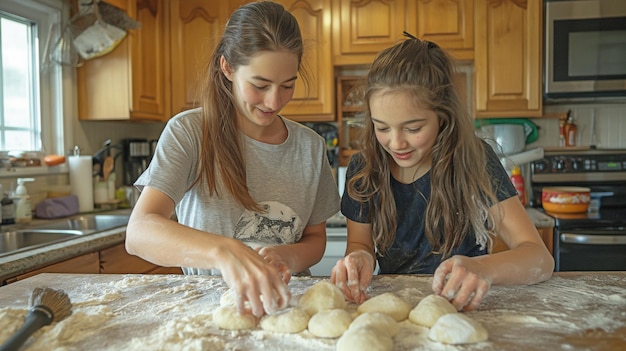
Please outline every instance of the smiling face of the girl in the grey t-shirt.
[[[287, 51], [261, 51], [233, 71], [222, 57], [222, 71], [233, 82], [233, 95], [245, 125], [269, 126], [293, 97], [298, 57]], [[242, 126], [245, 128], [245, 126]]]

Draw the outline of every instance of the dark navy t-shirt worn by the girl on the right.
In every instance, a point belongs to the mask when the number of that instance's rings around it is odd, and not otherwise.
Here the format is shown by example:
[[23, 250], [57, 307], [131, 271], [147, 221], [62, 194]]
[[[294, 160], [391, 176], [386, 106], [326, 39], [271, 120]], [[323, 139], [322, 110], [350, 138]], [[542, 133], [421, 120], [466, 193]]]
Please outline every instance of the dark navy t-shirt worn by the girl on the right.
[[[498, 201], [516, 196], [517, 191], [500, 160], [490, 147], [488, 150], [487, 174], [492, 177], [493, 189]], [[347, 180], [361, 167], [363, 158], [355, 155], [348, 165]], [[346, 184], [347, 184], [346, 180]], [[376, 253], [380, 274], [432, 274], [441, 263], [441, 255], [431, 254], [432, 246], [424, 231], [426, 205], [430, 199], [430, 172], [411, 184], [403, 184], [391, 177], [391, 188], [398, 212], [398, 228], [393, 245], [384, 256]], [[347, 190], [341, 199], [341, 213], [346, 218], [360, 223], [369, 223], [369, 204], [361, 205], [348, 196]], [[479, 256], [487, 253], [480, 248], [474, 233], [469, 233], [452, 255]]]

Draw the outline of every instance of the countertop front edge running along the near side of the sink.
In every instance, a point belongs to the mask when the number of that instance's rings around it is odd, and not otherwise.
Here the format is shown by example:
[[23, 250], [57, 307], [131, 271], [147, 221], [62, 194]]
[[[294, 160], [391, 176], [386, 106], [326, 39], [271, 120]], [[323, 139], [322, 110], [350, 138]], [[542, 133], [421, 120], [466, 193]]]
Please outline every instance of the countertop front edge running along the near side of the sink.
[[8, 278], [123, 243], [125, 239], [126, 226], [0, 257], [0, 284]]

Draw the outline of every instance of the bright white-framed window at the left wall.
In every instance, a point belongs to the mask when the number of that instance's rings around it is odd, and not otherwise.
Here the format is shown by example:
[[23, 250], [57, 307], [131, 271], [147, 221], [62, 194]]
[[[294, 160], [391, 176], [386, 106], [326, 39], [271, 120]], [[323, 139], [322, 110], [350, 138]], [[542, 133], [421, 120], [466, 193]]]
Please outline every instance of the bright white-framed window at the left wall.
[[73, 104], [64, 81], [75, 73], [46, 56], [68, 6], [65, 0], [0, 1], [0, 150], [64, 154], [71, 124], [65, 128], [63, 116]]

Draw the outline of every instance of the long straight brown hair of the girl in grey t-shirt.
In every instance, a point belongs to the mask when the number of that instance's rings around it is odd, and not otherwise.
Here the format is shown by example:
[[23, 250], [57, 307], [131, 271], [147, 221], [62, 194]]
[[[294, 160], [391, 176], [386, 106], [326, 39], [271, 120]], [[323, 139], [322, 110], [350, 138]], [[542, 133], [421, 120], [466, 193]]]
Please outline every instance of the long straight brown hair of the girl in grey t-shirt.
[[232, 83], [220, 68], [220, 58], [224, 56], [236, 71], [248, 65], [260, 51], [281, 50], [297, 55], [298, 71], [306, 83], [306, 72], [301, 64], [303, 41], [295, 17], [272, 1], [245, 4], [230, 16], [211, 54], [200, 89], [204, 117], [198, 155], [201, 171], [192, 186], [206, 183], [209, 195], [220, 196], [218, 188], [222, 185], [235, 201], [249, 210], [261, 211], [248, 191]]

